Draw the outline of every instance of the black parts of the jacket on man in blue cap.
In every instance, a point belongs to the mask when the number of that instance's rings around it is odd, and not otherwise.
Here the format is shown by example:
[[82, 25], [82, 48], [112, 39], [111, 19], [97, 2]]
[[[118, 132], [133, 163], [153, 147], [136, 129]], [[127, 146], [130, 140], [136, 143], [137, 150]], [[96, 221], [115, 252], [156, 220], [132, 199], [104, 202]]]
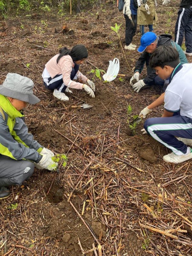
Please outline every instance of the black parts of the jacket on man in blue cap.
[[[158, 42], [157, 42], [157, 47], [160, 45], [172, 45], [171, 43], [171, 36], [159, 36], [158, 37]], [[144, 51], [142, 52], [139, 60], [136, 62], [135, 64], [135, 69], [134, 69], [134, 73], [136, 71], [139, 71], [139, 73], [141, 73], [145, 63], [146, 63], [146, 67], [147, 67], [147, 76], [145, 77], [145, 79], [143, 80], [143, 82], [145, 84], [148, 84], [149, 82], [152, 82], [156, 76], [156, 72], [155, 69], [150, 68], [149, 67], [149, 59], [150, 59], [151, 54]]]

